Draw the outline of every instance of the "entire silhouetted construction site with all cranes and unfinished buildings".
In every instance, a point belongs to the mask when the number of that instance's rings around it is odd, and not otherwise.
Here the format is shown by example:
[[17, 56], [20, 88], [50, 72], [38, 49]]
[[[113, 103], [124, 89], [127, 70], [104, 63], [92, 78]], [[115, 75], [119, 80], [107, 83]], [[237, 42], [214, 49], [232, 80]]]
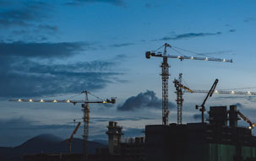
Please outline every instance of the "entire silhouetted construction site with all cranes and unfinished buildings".
[[[11, 99], [11, 101], [18, 102], [81, 104], [84, 115], [82, 125], [83, 153], [72, 153], [72, 139], [81, 125], [79, 122], [72, 135], [66, 140], [69, 153], [25, 154], [24, 161], [255, 161], [256, 137], [253, 136], [255, 124], [250, 121], [250, 118], [243, 115], [242, 110], [237, 109], [237, 105], [205, 106], [207, 100], [214, 94], [256, 95], [254, 92], [216, 90], [219, 82], [217, 78], [209, 90], [189, 89], [182, 83], [182, 73], [180, 73], [178, 78], [172, 82], [176, 89], [172, 92], [177, 95], [175, 98], [177, 122], [168, 121], [170, 114], [168, 107], [169, 58], [179, 61], [233, 62], [232, 60], [213, 57], [168, 55], [167, 50], [169, 48], [172, 46], [166, 43], [155, 51], [145, 52], [147, 59], [151, 57], [163, 59], [161, 62], [162, 122], [157, 125], [144, 125], [144, 137], [133, 137], [123, 142], [123, 126], [119, 125], [117, 121], [110, 120], [106, 125], [108, 147], [97, 148], [94, 154], [88, 153], [90, 104], [115, 104], [116, 98], [90, 101], [88, 94], [91, 93], [83, 91], [84, 100]], [[163, 49], [162, 52], [159, 51], [161, 49]], [[201, 116], [201, 121], [197, 123], [182, 123], [182, 95], [185, 93], [206, 94], [202, 100], [203, 103], [199, 102], [199, 105], [193, 107]], [[248, 126], [238, 126], [240, 120], [245, 121]]]

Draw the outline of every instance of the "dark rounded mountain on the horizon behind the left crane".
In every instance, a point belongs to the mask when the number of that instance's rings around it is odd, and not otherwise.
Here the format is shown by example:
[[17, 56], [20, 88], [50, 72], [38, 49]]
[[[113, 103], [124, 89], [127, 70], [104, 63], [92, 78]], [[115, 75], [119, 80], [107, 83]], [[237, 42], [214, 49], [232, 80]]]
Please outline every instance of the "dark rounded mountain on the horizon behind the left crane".
[[[72, 153], [83, 152], [83, 140], [72, 140]], [[106, 148], [98, 142], [88, 142], [88, 153], [95, 153], [96, 148]], [[43, 134], [30, 138], [28, 141], [14, 148], [0, 147], [1, 161], [22, 161], [24, 154], [35, 153], [68, 153], [68, 142], [52, 134]]]

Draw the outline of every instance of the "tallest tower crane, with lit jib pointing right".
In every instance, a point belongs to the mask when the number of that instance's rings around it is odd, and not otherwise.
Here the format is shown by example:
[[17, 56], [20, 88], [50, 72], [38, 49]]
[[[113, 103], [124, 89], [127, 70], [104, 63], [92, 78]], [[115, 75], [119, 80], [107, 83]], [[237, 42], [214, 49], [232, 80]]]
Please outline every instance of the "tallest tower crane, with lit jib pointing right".
[[[197, 56], [172, 56], [167, 55], [167, 48], [173, 48], [174, 46], [171, 46], [167, 43], [165, 43], [163, 46], [158, 48], [156, 51], [160, 50], [162, 47], [164, 47], [164, 52], [157, 52], [155, 51], [146, 51], [145, 57], [147, 59], [150, 59], [151, 56], [156, 57], [162, 57], [163, 62], [161, 63], [161, 78], [162, 78], [162, 124], [167, 125], [168, 124], [168, 79], [169, 79], [169, 64], [167, 62], [168, 58], [175, 58], [179, 59], [181, 61], [188, 59], [188, 60], [199, 60], [199, 61], [212, 61], [212, 62], [232, 62], [232, 60], [226, 60], [221, 58], [213, 58], [213, 57], [197, 57]], [[175, 47], [177, 48], [177, 47]], [[173, 49], [174, 50], [174, 49]], [[176, 50], [174, 50], [176, 51]]]

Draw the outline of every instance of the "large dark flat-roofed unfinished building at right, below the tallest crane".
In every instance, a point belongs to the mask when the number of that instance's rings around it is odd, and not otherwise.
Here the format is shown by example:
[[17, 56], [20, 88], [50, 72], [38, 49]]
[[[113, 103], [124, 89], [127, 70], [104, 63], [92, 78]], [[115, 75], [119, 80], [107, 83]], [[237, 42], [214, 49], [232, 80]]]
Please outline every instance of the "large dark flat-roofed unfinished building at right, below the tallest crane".
[[250, 128], [237, 126], [238, 112], [235, 105], [215, 106], [209, 123], [145, 126], [145, 160], [255, 160], [256, 137]]

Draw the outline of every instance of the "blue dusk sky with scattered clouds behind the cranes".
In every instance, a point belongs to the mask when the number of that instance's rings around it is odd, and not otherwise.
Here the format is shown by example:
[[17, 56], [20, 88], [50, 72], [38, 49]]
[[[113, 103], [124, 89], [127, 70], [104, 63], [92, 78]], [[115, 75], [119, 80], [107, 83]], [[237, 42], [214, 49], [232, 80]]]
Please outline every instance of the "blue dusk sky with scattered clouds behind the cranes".
[[[256, 91], [255, 5], [254, 0], [0, 0], [0, 146], [14, 147], [42, 133], [68, 138], [82, 121], [80, 105], [8, 99], [84, 99], [84, 90], [117, 98], [115, 105], [90, 105], [90, 140], [106, 140], [108, 121], [118, 121], [124, 137], [143, 136], [145, 125], [161, 124], [162, 61], [144, 53], [165, 43], [172, 46], [169, 55], [233, 60], [168, 59], [169, 123], [177, 122], [172, 81], [180, 72], [190, 89], [210, 89], [218, 78], [216, 89]], [[199, 122], [194, 106], [205, 94], [183, 97], [183, 123]], [[255, 101], [215, 94], [206, 107], [237, 105], [255, 122]]]

